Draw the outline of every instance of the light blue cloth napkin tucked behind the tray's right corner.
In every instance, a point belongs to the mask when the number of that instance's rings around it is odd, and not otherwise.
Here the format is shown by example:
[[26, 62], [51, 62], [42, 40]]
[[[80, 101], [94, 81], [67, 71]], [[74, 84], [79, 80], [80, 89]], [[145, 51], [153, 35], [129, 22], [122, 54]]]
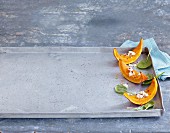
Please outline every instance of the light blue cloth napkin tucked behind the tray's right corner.
[[[135, 47], [139, 42], [133, 42], [130, 40], [125, 41], [120, 47]], [[156, 74], [165, 72], [159, 79], [165, 80], [170, 77], [170, 56], [159, 50], [155, 40], [153, 38], [144, 40], [144, 46], [148, 47], [150, 56], [152, 57], [152, 65], [155, 68]]]

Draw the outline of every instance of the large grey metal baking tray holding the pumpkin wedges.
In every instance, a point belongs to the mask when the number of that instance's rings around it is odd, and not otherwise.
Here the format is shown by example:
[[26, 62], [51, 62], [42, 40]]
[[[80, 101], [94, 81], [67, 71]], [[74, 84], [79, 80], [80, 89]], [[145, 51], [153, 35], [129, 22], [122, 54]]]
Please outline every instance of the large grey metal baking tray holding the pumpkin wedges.
[[[127, 52], [131, 48], [118, 48]], [[158, 117], [164, 109], [160, 85], [152, 110], [135, 107], [114, 87], [146, 86], [124, 79], [111, 47], [1, 47], [0, 118]], [[140, 59], [146, 57], [143, 49]], [[144, 73], [154, 69], [144, 70]], [[159, 82], [158, 82], [159, 83]]]

